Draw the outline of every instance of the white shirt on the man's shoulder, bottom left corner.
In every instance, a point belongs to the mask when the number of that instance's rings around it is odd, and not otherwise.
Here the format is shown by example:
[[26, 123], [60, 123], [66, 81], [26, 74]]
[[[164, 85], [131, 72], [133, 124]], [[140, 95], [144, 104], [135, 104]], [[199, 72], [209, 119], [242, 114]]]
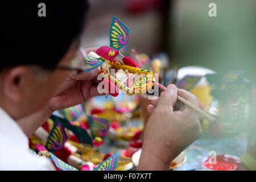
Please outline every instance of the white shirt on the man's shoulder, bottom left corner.
[[27, 136], [1, 107], [0, 170], [55, 170], [47, 158], [29, 151]]

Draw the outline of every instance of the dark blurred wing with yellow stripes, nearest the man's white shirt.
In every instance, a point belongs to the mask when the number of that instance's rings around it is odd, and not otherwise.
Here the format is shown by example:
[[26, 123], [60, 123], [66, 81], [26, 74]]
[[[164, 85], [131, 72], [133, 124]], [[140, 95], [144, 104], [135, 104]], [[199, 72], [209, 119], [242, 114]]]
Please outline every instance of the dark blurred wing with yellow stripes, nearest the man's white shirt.
[[48, 136], [46, 148], [50, 152], [60, 150], [67, 141], [67, 135], [60, 123], [56, 123]]

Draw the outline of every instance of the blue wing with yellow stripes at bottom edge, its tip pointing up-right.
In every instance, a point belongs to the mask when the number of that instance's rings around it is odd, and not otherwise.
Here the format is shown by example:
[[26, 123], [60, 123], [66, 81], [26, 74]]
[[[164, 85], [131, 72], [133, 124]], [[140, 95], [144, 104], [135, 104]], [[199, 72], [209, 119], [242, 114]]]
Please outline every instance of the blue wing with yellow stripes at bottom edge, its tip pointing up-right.
[[119, 155], [120, 152], [113, 154], [108, 159], [104, 160], [104, 162], [99, 164], [93, 171], [114, 171], [114, 169], [117, 168]]

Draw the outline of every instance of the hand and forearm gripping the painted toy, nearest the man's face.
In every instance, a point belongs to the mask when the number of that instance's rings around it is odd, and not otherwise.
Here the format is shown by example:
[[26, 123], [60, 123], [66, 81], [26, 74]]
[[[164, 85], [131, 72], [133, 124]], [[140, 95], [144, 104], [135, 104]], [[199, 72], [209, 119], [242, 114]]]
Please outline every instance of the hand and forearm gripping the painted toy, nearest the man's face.
[[[85, 49], [87, 53], [96, 50], [97, 48]], [[38, 111], [38, 113], [28, 115], [17, 121], [27, 137], [34, 134], [46, 122], [46, 119], [49, 118], [53, 111], [84, 103], [89, 98], [100, 95], [97, 91], [97, 75], [99, 73], [100, 68], [94, 69], [92, 72], [80, 73], [79, 75], [76, 75], [76, 72], [69, 73], [55, 96], [49, 100], [47, 106]]]

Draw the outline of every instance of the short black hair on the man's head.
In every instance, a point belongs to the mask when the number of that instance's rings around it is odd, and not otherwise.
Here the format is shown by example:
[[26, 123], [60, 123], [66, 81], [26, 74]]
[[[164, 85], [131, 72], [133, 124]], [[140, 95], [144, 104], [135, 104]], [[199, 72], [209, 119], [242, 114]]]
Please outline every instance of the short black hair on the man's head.
[[[39, 16], [46, 5], [46, 16]], [[16, 65], [55, 68], [84, 28], [87, 0], [1, 2], [0, 71]], [[42, 11], [40, 11], [42, 13]]]

